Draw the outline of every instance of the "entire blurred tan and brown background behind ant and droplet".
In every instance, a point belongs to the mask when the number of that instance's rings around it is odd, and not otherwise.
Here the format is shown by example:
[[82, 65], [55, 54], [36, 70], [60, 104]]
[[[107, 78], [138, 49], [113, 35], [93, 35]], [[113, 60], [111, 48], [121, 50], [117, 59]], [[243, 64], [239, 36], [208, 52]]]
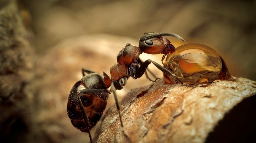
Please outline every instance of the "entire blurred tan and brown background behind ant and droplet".
[[[4, 6], [9, 1], [0, 0]], [[115, 64], [126, 45], [138, 45], [144, 32], [170, 32], [187, 43], [214, 48], [231, 75], [256, 80], [256, 1], [253, 0], [20, 0], [24, 25], [33, 32], [35, 78], [29, 84], [29, 131], [12, 133], [13, 142], [89, 142], [66, 114], [68, 93], [82, 67], [100, 74]], [[167, 37], [175, 47], [183, 44]], [[161, 62], [161, 56], [142, 55]], [[153, 72], [161, 77], [158, 69]], [[150, 83], [129, 79], [118, 95]], [[120, 99], [121, 99], [120, 97]], [[107, 108], [114, 104], [109, 97]], [[19, 121], [19, 120], [18, 120]], [[23, 121], [23, 119], [22, 119]], [[28, 121], [27, 121], [28, 122]], [[23, 126], [24, 125], [24, 126]], [[7, 127], [8, 127], [7, 126]], [[27, 129], [27, 127], [25, 127]], [[94, 135], [96, 129], [92, 130]], [[12, 139], [17, 135], [18, 139]], [[8, 140], [8, 139], [7, 139]]]

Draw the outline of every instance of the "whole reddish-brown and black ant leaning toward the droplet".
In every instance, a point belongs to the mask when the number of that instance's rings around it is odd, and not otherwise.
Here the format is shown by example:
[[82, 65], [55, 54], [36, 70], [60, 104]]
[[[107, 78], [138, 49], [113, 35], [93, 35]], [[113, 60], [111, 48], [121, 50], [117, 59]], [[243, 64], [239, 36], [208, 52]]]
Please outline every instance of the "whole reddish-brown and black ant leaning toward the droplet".
[[[106, 108], [108, 95], [112, 92], [115, 98], [120, 124], [123, 129], [120, 106], [115, 90], [123, 89], [123, 86], [126, 84], [129, 77], [137, 79], [144, 73], [150, 81], [155, 82], [158, 80], [158, 78], [156, 78], [156, 76], [147, 69], [150, 63], [153, 63], [153, 65], [163, 73], [176, 78], [181, 84], [191, 85], [183, 83], [175, 74], [172, 74], [160, 64], [150, 59], [142, 62], [139, 58], [140, 54], [143, 52], [147, 54], [164, 54], [162, 57], [163, 63], [167, 54], [175, 52], [175, 47], [170, 44], [171, 42], [162, 36], [173, 36], [185, 42], [184, 39], [177, 34], [145, 33], [140, 38], [138, 47], [132, 46], [128, 43], [123, 50], [120, 51], [117, 56], [117, 64], [110, 68], [111, 78], [105, 72], [103, 72], [103, 77], [101, 77], [90, 69], [82, 69], [83, 78], [75, 83], [69, 93], [67, 113], [73, 126], [80, 129], [82, 132], [89, 133], [91, 143], [92, 137], [90, 130], [101, 118], [101, 115]], [[151, 80], [148, 77], [146, 70], [148, 70], [156, 80]], [[85, 73], [87, 73], [87, 75]], [[84, 87], [84, 89], [79, 89], [80, 86]], [[110, 90], [108, 90], [109, 87]]]

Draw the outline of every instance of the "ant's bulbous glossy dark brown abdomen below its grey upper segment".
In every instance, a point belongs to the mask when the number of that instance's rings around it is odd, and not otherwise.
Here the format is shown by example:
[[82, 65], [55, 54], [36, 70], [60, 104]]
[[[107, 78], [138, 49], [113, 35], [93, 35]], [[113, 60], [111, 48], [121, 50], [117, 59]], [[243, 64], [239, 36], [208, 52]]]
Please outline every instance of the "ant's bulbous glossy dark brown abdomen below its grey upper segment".
[[[90, 93], [79, 94], [78, 91], [80, 86], [84, 87], [81, 81], [76, 82], [69, 93], [67, 113], [74, 127], [81, 130], [82, 132], [88, 132], [97, 124], [101, 118], [102, 113], [107, 105], [108, 95], [90, 95]], [[78, 95], [87, 115], [89, 126], [87, 126], [84, 121], [81, 106], [79, 106], [79, 100], [77, 97]]]

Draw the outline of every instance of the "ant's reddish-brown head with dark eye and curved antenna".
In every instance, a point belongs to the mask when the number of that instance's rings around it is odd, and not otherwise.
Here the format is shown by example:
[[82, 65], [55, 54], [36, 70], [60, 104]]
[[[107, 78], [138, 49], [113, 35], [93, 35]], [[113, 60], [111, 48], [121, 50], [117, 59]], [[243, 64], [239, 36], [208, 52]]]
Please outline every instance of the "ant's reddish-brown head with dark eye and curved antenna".
[[185, 42], [184, 39], [177, 34], [145, 33], [139, 41], [141, 51], [147, 54], [168, 54], [175, 52], [175, 47], [170, 44], [171, 42], [162, 36], [173, 36]]

